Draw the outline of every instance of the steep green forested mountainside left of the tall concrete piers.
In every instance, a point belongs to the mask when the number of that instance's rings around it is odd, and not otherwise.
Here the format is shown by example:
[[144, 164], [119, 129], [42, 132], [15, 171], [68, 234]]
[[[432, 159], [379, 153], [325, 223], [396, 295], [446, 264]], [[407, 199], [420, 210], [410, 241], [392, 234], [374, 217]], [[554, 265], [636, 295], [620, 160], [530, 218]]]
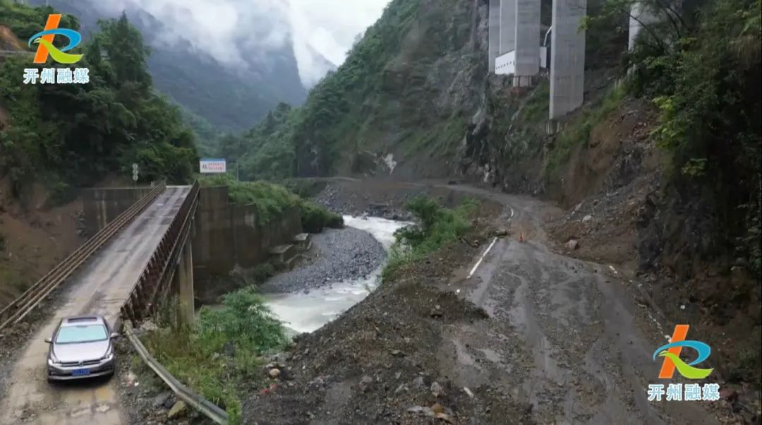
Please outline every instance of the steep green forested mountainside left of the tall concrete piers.
[[[431, 8], [393, 0], [303, 107], [278, 105], [247, 133], [222, 137], [216, 156], [229, 159], [241, 179], [276, 181], [367, 171], [373, 165], [363, 162], [366, 151], [452, 156], [477, 100], [442, 93], [456, 74], [484, 60], [466, 48], [471, 19], [457, 0]], [[443, 60], [459, 50], [457, 60]]]

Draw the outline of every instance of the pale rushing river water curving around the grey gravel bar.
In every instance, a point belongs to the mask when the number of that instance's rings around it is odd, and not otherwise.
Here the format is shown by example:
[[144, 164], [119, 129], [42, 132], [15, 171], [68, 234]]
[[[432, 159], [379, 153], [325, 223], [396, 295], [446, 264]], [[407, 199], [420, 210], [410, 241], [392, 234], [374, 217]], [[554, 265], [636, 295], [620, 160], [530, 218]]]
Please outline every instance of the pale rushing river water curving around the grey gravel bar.
[[[408, 223], [379, 217], [344, 216], [344, 224], [372, 234], [386, 249], [394, 242], [394, 232]], [[334, 320], [349, 307], [362, 301], [379, 285], [384, 264], [380, 264], [367, 279], [331, 282], [305, 294], [264, 294], [273, 314], [293, 333], [312, 332]]]

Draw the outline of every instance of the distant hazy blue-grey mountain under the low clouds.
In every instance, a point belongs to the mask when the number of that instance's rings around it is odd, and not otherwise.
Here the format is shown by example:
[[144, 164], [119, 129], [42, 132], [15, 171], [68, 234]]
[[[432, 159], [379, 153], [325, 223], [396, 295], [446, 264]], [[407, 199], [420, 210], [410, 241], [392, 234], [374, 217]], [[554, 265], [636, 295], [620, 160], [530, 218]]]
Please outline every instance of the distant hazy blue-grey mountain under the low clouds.
[[[84, 34], [97, 29], [98, 19], [119, 13], [82, 0], [50, 0], [50, 5], [77, 16]], [[281, 101], [298, 105], [304, 100], [306, 89], [289, 46], [269, 52], [257, 63], [256, 72], [249, 71], [245, 63], [228, 66], [195, 48], [182, 34], [174, 34], [174, 42], [167, 43], [162, 37], [169, 31], [162, 22], [131, 5], [126, 3], [126, 14], [152, 49], [148, 64], [156, 87], [215, 126], [226, 130], [251, 127]], [[267, 66], [259, 66], [263, 62]]]

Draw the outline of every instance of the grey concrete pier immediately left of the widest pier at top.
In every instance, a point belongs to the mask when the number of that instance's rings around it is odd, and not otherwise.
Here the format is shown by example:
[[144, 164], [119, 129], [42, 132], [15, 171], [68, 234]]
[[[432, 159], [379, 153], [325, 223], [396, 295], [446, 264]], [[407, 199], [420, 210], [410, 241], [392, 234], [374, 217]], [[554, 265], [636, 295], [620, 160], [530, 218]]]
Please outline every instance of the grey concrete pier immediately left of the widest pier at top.
[[[539, 74], [539, 0], [516, 2], [516, 75]], [[524, 81], [524, 80], [522, 80]], [[525, 79], [529, 81], [529, 79]]]

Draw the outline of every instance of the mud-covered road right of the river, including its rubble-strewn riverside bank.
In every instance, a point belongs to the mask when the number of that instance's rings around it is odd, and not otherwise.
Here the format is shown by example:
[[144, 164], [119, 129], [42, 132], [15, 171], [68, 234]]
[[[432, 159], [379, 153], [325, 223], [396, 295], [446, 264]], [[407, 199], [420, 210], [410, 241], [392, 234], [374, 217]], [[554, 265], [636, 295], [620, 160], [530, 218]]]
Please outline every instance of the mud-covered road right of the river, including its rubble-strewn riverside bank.
[[441, 182], [331, 185], [330, 201], [357, 212], [418, 193], [477, 195], [500, 212], [472, 235], [478, 247], [434, 253], [300, 339], [278, 360], [288, 378], [251, 395], [245, 423], [720, 423], [722, 401], [648, 401], [673, 324], [633, 271], [549, 249], [552, 205]]

